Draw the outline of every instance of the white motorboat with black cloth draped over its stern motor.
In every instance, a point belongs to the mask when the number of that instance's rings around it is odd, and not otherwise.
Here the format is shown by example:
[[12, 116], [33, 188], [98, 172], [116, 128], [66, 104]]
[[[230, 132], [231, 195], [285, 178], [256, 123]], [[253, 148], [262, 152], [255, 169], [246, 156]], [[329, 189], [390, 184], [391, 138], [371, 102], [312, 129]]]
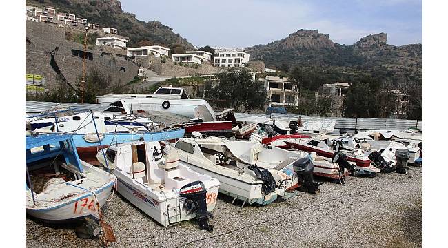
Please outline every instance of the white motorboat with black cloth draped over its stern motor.
[[[276, 147], [272, 147], [272, 152], [270, 147], [268, 149], [261, 144], [215, 137], [183, 138], [175, 144], [165, 142], [165, 145], [177, 149], [179, 159], [196, 172], [218, 178], [220, 192], [234, 198], [232, 203], [238, 199], [243, 201], [243, 205], [266, 205], [278, 196], [285, 196], [286, 189], [298, 186], [294, 162], [301, 158], [300, 154], [291, 154], [294, 158], [287, 157]], [[274, 162], [272, 155], [275, 152], [279, 152], [282, 158]], [[309, 184], [309, 192], [316, 193], [317, 185], [312, 181]]]

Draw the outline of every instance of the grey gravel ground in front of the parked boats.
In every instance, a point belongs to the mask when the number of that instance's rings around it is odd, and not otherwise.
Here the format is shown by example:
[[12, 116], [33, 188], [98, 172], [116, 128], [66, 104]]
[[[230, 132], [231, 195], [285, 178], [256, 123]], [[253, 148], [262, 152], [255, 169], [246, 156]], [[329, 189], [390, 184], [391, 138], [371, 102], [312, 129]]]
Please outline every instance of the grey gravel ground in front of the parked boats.
[[[320, 190], [263, 207], [231, 205], [232, 199], [220, 196], [212, 233], [193, 221], [162, 227], [119, 194], [104, 216], [114, 229], [114, 247], [422, 247], [421, 167], [410, 167], [408, 176], [350, 176], [346, 185], [325, 182]], [[29, 218], [26, 246], [100, 247], [77, 238], [73, 229]]]

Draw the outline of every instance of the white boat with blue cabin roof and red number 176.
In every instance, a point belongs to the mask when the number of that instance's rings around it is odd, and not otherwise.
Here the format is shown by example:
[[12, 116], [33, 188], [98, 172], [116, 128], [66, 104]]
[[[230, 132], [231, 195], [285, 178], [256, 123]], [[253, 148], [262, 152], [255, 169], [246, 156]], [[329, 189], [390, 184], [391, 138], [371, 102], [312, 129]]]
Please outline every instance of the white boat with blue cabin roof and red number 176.
[[80, 161], [70, 135], [27, 136], [26, 172], [26, 214], [49, 223], [99, 220], [116, 180]]

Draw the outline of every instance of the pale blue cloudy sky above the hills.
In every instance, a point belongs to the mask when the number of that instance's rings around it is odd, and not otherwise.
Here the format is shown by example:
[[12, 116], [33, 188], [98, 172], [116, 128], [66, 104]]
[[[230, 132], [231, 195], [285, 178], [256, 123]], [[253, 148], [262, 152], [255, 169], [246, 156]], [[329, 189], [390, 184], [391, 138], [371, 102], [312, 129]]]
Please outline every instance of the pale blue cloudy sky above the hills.
[[197, 46], [249, 47], [299, 29], [345, 45], [380, 32], [390, 45], [422, 43], [421, 0], [121, 0], [121, 8]]

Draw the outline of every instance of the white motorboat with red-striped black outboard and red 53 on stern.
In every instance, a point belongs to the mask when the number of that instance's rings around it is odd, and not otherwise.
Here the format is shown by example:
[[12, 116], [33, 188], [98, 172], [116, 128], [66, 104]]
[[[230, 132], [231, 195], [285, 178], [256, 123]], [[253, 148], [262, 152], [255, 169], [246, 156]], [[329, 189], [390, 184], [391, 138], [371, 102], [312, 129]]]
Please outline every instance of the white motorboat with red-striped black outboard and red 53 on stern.
[[176, 150], [165, 158], [159, 142], [141, 141], [111, 145], [96, 157], [113, 169], [118, 192], [164, 227], [196, 218], [201, 229], [212, 231], [207, 220], [219, 181], [178, 163]]

